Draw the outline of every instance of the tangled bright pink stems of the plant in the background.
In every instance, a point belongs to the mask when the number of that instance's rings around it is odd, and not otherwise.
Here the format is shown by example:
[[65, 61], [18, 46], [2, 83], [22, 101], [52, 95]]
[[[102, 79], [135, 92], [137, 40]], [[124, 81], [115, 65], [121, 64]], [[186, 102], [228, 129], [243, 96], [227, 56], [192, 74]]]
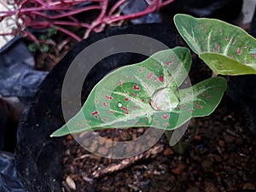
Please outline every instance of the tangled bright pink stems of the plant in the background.
[[[52, 27], [80, 41], [82, 38], [87, 38], [91, 32], [102, 32], [106, 26], [120, 26], [125, 20], [148, 15], [173, 1], [145, 0], [146, 9], [122, 15], [121, 10], [129, 4], [130, 0], [14, 0], [8, 2], [0, 0], [6, 9], [0, 11], [0, 21], [13, 20], [15, 23], [11, 32], [0, 35], [22, 34], [35, 43], [43, 41], [45, 44], [45, 39], [37, 38], [32, 34], [31, 29], [42, 30]], [[85, 13], [88, 17], [85, 17]], [[73, 29], [69, 28], [70, 26], [84, 28], [83, 37], [75, 34]]]

